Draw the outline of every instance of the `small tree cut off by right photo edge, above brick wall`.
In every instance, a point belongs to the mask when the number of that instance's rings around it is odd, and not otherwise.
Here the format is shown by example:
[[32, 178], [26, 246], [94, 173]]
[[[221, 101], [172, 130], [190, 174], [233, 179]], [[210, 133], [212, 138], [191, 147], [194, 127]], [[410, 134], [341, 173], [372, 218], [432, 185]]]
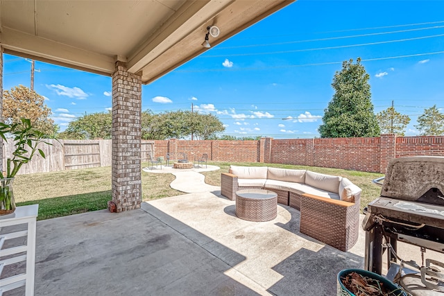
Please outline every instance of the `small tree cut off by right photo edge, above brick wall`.
[[444, 114], [439, 112], [436, 105], [424, 110], [418, 117], [418, 125], [421, 136], [443, 136], [444, 135]]

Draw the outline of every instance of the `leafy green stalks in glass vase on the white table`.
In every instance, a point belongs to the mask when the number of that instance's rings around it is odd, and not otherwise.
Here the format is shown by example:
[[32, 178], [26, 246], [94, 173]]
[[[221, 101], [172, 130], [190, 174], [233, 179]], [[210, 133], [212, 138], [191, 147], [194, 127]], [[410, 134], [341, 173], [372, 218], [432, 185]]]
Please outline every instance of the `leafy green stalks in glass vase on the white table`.
[[21, 119], [21, 121], [21, 123], [12, 124], [0, 123], [0, 137], [8, 141], [6, 135], [9, 134], [15, 141], [12, 158], [6, 159], [6, 171], [0, 173], [0, 215], [11, 214], [15, 211], [12, 182], [22, 165], [31, 162], [37, 152], [45, 158], [44, 152], [37, 148], [40, 143], [52, 145], [45, 140], [49, 138], [46, 134], [33, 128], [30, 119]]

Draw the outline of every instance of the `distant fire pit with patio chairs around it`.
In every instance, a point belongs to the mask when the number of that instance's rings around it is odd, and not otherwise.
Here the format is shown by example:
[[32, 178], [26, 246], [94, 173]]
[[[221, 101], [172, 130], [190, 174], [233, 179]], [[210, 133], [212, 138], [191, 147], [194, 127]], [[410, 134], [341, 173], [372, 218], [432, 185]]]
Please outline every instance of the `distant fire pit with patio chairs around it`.
[[157, 168], [160, 166], [162, 169], [162, 163], [165, 162], [165, 166], [173, 166], [173, 168], [203, 168], [203, 164], [205, 164], [205, 168], [207, 168], [207, 153], [203, 153], [202, 157], [194, 157], [193, 162], [189, 162], [187, 155], [185, 153], [167, 153], [166, 160], [164, 157], [157, 157], [157, 159], [153, 159], [151, 155], [148, 153], [148, 168], [153, 170], [154, 166]]

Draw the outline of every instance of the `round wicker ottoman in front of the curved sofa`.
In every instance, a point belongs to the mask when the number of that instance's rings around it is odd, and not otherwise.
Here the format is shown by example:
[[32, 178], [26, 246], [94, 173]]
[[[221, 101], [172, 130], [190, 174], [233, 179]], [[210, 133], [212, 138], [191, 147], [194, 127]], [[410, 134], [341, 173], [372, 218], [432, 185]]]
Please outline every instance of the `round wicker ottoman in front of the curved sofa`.
[[262, 189], [244, 189], [236, 192], [236, 216], [263, 222], [278, 216], [278, 194]]

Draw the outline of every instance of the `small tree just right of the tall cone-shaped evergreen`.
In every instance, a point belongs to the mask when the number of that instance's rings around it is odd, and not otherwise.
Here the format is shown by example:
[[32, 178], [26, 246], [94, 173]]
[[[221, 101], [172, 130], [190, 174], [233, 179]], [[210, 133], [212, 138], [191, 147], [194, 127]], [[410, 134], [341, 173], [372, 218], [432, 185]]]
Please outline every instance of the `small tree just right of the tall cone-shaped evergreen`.
[[391, 107], [376, 114], [376, 119], [382, 134], [397, 134], [400, 137], [404, 136], [405, 128], [410, 122], [410, 117], [397, 112], [393, 103]]

